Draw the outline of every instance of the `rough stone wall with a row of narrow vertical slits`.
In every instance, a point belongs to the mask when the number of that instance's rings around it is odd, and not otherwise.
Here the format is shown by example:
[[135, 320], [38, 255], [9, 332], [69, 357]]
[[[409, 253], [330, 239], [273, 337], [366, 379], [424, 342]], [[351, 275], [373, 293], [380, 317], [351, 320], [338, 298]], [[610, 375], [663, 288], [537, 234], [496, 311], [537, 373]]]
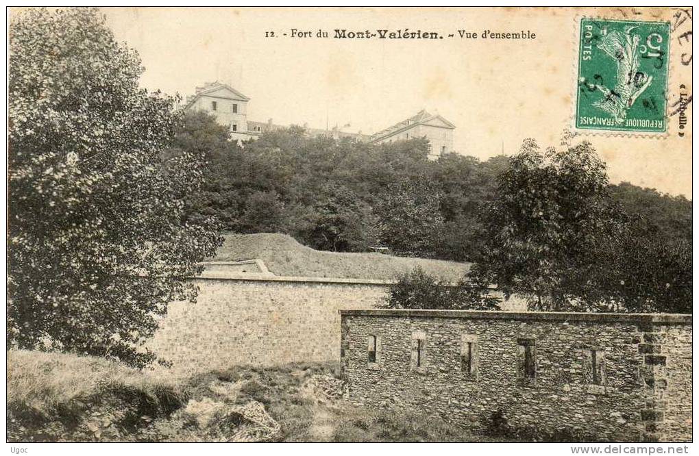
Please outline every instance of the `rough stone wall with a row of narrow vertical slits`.
[[341, 313], [353, 402], [480, 431], [499, 412], [512, 427], [588, 439], [691, 440], [691, 316]]

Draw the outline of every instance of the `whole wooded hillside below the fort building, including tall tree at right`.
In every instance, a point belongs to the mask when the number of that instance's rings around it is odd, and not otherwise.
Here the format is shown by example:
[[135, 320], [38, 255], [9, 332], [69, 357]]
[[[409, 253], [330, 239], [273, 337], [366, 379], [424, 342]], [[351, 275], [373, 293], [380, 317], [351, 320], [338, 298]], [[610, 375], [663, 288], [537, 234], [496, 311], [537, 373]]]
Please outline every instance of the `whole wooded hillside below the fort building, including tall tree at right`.
[[189, 113], [175, 140], [206, 162], [187, 198], [193, 223], [473, 262], [473, 280], [526, 295], [533, 309], [691, 311], [691, 201], [610, 184], [588, 142], [429, 161], [426, 140], [373, 145], [291, 127], [240, 147], [226, 135]]

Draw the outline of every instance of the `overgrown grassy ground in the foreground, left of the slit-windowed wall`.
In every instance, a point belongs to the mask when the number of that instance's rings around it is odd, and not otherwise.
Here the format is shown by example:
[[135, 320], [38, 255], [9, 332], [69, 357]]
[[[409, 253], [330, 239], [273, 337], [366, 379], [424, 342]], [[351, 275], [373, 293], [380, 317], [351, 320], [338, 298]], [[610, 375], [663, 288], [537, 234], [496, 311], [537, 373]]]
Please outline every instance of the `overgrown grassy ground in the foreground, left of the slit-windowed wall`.
[[278, 423], [271, 441], [501, 441], [308, 388], [336, 374], [333, 365], [297, 363], [173, 383], [99, 358], [9, 351], [8, 441], [235, 441], [240, 429], [256, 429], [236, 412], [251, 403]]

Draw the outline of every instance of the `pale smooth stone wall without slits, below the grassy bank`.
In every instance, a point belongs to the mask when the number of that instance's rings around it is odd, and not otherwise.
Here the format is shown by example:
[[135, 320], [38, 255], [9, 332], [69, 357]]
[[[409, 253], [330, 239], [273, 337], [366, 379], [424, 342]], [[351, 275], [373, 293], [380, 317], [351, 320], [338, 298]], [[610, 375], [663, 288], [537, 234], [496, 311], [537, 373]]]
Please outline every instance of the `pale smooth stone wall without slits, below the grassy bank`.
[[173, 302], [147, 348], [192, 374], [232, 365], [338, 361], [338, 309], [372, 308], [380, 281], [195, 279], [196, 304]]

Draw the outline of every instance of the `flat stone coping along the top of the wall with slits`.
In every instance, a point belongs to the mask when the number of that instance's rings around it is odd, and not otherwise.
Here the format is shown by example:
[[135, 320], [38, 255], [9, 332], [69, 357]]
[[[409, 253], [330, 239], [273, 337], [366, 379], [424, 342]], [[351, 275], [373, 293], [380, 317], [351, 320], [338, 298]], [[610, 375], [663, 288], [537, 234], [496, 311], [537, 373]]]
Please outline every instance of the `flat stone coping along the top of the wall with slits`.
[[691, 325], [691, 314], [607, 314], [593, 312], [517, 312], [496, 310], [433, 309], [340, 309], [349, 316], [407, 316], [430, 318], [470, 318], [480, 320], [585, 321], [609, 323], [655, 323]]

